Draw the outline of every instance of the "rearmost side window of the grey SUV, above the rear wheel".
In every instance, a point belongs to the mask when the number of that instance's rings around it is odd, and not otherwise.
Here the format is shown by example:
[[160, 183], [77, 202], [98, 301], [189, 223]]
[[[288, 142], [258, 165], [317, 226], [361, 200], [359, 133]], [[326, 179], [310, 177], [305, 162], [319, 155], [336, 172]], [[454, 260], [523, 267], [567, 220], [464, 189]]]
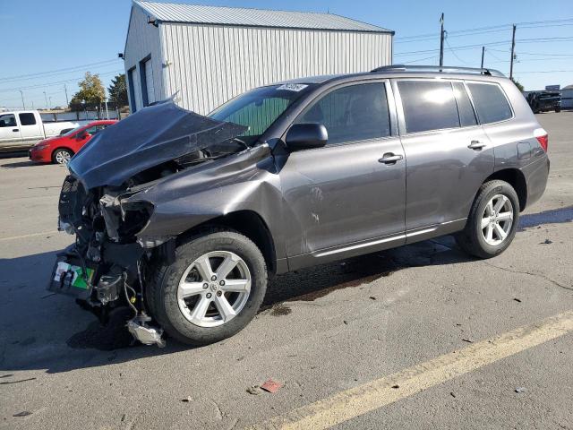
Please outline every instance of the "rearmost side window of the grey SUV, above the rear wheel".
[[468, 83], [467, 87], [472, 93], [477, 115], [482, 124], [497, 123], [512, 116], [508, 99], [503, 95], [499, 85], [495, 83]]

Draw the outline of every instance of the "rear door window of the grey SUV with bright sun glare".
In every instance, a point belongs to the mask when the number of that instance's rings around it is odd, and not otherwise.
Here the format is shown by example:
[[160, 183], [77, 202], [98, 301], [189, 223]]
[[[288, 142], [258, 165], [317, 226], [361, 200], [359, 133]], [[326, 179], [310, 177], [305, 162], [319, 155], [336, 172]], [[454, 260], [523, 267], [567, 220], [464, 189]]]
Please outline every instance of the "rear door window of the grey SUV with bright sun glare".
[[406, 132], [459, 127], [458, 107], [450, 82], [399, 81]]

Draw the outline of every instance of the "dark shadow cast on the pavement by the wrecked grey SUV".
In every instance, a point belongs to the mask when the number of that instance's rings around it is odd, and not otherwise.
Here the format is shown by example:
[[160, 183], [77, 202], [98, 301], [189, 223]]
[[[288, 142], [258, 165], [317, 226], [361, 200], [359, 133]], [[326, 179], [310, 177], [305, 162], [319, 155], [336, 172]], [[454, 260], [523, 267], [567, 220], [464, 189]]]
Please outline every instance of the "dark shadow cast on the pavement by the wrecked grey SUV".
[[[573, 207], [525, 215], [521, 228], [569, 222]], [[125, 315], [107, 326], [70, 297], [45, 287], [56, 252], [0, 259], [0, 372], [68, 372], [181, 352], [190, 347], [167, 340], [166, 348], [134, 345], [124, 328]], [[410, 267], [472, 261], [443, 236], [341, 262], [280, 275], [269, 281], [261, 313], [288, 313], [285, 302], [312, 301], [341, 288], [356, 288]], [[209, 348], [209, 347], [207, 347]], [[0, 382], [0, 384], [3, 382]]]

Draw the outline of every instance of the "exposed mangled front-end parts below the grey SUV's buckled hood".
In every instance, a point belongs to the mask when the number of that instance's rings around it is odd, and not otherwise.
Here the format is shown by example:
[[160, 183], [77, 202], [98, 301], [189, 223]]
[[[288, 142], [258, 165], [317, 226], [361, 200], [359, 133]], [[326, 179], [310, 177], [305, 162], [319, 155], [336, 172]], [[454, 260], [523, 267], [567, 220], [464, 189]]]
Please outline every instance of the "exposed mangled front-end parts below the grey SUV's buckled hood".
[[124, 202], [133, 193], [111, 187], [86, 192], [74, 176], [65, 178], [58, 228], [75, 235], [75, 243], [57, 255], [48, 289], [75, 297], [102, 323], [116, 308], [129, 306], [133, 318], [127, 328], [134, 338], [163, 347], [163, 331], [150, 325], [144, 288], [151, 258], [169, 244], [166, 241], [146, 252], [138, 242], [135, 235], [146, 226], [153, 206]]

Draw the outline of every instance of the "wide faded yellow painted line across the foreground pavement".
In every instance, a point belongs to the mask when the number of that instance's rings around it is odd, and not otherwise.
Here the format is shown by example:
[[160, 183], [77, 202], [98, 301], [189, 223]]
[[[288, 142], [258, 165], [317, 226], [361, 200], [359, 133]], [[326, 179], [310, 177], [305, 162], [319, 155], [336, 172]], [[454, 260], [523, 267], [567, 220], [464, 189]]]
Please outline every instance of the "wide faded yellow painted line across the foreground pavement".
[[295, 409], [255, 429], [324, 429], [573, 331], [573, 311], [509, 331]]

